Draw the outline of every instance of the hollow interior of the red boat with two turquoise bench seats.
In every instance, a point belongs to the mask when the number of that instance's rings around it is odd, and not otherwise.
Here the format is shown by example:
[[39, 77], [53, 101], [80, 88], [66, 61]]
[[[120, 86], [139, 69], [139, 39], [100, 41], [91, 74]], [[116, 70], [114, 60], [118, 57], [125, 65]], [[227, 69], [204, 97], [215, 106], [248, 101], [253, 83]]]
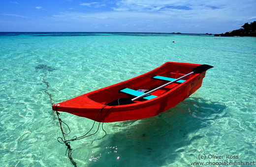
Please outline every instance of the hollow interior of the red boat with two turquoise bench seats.
[[[176, 64], [176, 63], [165, 63], [162, 66], [142, 74], [138, 77], [132, 78], [130, 80], [117, 83], [102, 89], [99, 89], [95, 92], [92, 92], [88, 98], [97, 102], [97, 103], [109, 103], [117, 99], [132, 99], [136, 96], [139, 96], [143, 93], [146, 93], [147, 90], [153, 90], [165, 83], [169, 83], [177, 78], [180, 78], [191, 72], [192, 68], [196, 65], [191, 64]], [[147, 95], [143, 98], [133, 101], [133, 103], [138, 103], [145, 100], [150, 100], [156, 98], [166, 92], [172, 90], [174, 87], [184, 83], [186, 80], [191, 78], [193, 75], [187, 76], [182, 80], [179, 80], [175, 83], [166, 85], [155, 92], [152, 92], [150, 95]]]

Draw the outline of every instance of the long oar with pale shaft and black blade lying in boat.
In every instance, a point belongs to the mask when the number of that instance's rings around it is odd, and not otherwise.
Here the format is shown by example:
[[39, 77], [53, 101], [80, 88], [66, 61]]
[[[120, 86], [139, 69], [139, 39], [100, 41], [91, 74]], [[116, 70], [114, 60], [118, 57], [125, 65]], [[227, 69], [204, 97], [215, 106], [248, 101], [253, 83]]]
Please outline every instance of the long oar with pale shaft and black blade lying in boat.
[[197, 73], [197, 74], [198, 74], [198, 73], [202, 73], [202, 72], [204, 72], [204, 71], [206, 71], [206, 70], [208, 70], [208, 69], [210, 69], [210, 68], [213, 68], [213, 66], [207, 65], [207, 64], [199, 65], [199, 66], [193, 68], [191, 73], [189, 73], [189, 74], [187, 74], [187, 75], [185, 75], [185, 76], [182, 76], [182, 77], [180, 77], [180, 78], [178, 78], [178, 79], [176, 79], [176, 80], [174, 80], [174, 81], [172, 81], [172, 82], [165, 83], [164, 85], [161, 85], [160, 87], [157, 87], [157, 88], [155, 88], [155, 89], [153, 89], [153, 90], [151, 90], [151, 91], [149, 91], [149, 92], [147, 92], [147, 93], [144, 93], [144, 94], [142, 94], [142, 95], [140, 95], [140, 96], [137, 96], [137, 97], [135, 97], [135, 98], [133, 98], [133, 99], [130, 99], [130, 100], [127, 100], [127, 99], [118, 99], [118, 100], [115, 100], [115, 101], [113, 101], [113, 102], [108, 103], [107, 105], [108, 105], [108, 106], [114, 106], [114, 105], [131, 104], [132, 101], [137, 100], [137, 99], [140, 99], [140, 98], [142, 98], [142, 97], [144, 97], [144, 96], [146, 96], [146, 95], [148, 95], [148, 94], [150, 94], [150, 93], [153, 93], [154, 91], [156, 91], [156, 90], [158, 90], [158, 89], [160, 89], [160, 88], [162, 88], [162, 87], [164, 87], [164, 86], [167, 86], [168, 84], [175, 83], [175, 82], [177, 82], [177, 81], [179, 81], [179, 80], [181, 80], [181, 79], [183, 79], [183, 78], [185, 78], [185, 77], [187, 77], [187, 76], [189, 76], [189, 75], [191, 75], [191, 74], [193, 74], [193, 73]]

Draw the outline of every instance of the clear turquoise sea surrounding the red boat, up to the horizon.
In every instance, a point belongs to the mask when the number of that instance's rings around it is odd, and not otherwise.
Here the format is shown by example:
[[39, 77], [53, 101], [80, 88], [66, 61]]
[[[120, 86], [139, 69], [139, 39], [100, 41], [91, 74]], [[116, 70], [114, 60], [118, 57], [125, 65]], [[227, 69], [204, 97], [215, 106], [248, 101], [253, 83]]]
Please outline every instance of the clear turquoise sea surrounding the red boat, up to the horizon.
[[[233, 164], [213, 166], [256, 166], [255, 37], [0, 33], [0, 46], [1, 167], [191, 167], [221, 161]], [[52, 104], [166, 61], [214, 68], [200, 89], [158, 116], [104, 123], [104, 138], [100, 128], [72, 141], [68, 150], [58, 142], [62, 132]], [[60, 117], [71, 129], [67, 139], [84, 135], [94, 123], [69, 113]]]

